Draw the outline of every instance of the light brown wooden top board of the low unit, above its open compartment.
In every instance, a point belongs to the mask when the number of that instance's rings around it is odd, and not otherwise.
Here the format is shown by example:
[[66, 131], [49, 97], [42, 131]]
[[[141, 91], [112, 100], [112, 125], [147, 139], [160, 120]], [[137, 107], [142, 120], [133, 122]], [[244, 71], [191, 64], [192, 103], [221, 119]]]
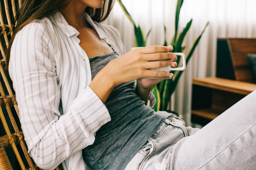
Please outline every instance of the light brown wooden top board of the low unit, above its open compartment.
[[256, 84], [216, 77], [194, 79], [193, 84], [245, 95], [256, 90]]

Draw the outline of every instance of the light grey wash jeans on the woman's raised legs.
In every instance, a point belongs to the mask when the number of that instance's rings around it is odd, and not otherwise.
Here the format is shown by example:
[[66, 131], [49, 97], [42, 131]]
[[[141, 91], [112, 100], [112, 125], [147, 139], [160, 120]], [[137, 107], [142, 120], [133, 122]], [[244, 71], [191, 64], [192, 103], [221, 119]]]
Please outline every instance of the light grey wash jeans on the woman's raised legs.
[[169, 117], [125, 170], [256, 170], [256, 90], [202, 129]]

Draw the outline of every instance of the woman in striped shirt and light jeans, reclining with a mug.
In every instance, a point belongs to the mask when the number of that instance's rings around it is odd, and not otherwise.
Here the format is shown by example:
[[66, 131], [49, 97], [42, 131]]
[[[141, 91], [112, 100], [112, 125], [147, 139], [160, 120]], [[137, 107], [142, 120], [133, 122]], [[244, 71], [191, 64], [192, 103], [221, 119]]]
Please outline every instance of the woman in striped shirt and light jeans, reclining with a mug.
[[[112, 5], [112, 0], [23, 2], [7, 54], [35, 163], [75, 170], [86, 164], [111, 170], [254, 167], [255, 106], [245, 100], [255, 93], [232, 107], [241, 114], [247, 109], [246, 117], [231, 115], [231, 108], [202, 130], [154, 112], [146, 104], [154, 104], [150, 89], [162, 79], [141, 78], [172, 79], [148, 69], [176, 67], [177, 57], [171, 46], [125, 53], [118, 31], [98, 23]], [[159, 59], [169, 60], [150, 62]], [[233, 146], [243, 140], [246, 144]]]

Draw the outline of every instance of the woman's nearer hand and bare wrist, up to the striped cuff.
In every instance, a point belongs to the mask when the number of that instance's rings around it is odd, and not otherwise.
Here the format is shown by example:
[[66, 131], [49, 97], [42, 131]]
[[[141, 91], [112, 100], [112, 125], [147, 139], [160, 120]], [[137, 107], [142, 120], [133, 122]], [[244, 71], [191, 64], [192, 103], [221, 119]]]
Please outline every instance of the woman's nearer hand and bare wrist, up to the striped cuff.
[[[105, 102], [112, 89], [142, 77], [167, 77], [169, 72], [148, 70], [173, 65], [172, 46], [149, 46], [132, 50], [110, 61], [94, 77], [89, 87]], [[154, 61], [169, 59], [167, 61]], [[153, 62], [150, 62], [153, 61]]]

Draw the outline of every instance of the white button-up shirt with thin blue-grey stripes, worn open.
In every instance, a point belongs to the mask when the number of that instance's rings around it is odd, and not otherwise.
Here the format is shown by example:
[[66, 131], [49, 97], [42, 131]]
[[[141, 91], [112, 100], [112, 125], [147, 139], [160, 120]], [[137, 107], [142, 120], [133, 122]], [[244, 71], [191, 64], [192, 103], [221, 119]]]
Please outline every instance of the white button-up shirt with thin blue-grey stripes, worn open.
[[[119, 56], [125, 54], [118, 31], [85, 20]], [[107, 108], [89, 88], [88, 56], [79, 32], [60, 12], [35, 20], [19, 31], [11, 48], [9, 73], [16, 92], [28, 152], [42, 169], [62, 163], [65, 170], [83, 170], [81, 149], [111, 120]], [[155, 102], [150, 94], [150, 103]]]

